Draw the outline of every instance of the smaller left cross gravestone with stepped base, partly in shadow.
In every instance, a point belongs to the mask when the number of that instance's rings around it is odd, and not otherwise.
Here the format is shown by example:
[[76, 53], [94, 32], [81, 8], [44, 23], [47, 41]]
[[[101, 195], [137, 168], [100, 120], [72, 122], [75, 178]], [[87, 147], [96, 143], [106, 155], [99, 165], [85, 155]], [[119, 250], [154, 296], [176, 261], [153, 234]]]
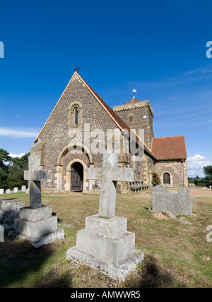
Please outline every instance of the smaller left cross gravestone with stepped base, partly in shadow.
[[35, 248], [64, 238], [64, 230], [57, 228], [57, 216], [52, 215], [52, 207], [42, 205], [41, 185], [47, 173], [40, 170], [40, 156], [29, 156], [29, 170], [24, 171], [29, 181], [30, 207], [20, 209], [20, 219], [15, 219], [13, 235], [29, 240]]

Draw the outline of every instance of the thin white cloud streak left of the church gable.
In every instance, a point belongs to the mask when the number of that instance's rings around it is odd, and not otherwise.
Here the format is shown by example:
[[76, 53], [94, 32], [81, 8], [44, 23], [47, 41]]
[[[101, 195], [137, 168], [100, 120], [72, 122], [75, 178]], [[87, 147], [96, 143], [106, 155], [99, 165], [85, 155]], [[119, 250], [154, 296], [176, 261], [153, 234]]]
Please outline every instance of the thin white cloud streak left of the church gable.
[[37, 134], [35, 129], [14, 129], [0, 127], [0, 137], [9, 137], [10, 139], [25, 139], [36, 138]]

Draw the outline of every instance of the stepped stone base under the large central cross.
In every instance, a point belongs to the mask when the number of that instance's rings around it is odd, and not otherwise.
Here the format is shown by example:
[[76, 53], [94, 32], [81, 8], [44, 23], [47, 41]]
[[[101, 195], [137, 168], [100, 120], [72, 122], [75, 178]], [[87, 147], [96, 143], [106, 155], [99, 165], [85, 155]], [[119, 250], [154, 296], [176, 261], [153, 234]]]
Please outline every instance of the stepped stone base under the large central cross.
[[126, 231], [126, 218], [86, 218], [86, 228], [78, 231], [76, 246], [66, 251], [66, 259], [90, 265], [114, 279], [124, 280], [143, 260], [135, 250], [135, 234]]

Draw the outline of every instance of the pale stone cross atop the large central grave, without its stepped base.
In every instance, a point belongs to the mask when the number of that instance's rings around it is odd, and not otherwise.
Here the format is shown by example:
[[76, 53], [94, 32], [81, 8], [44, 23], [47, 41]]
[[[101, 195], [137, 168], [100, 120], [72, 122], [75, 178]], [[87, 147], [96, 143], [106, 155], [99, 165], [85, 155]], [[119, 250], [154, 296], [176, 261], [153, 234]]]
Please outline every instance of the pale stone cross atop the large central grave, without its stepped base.
[[134, 181], [134, 169], [119, 168], [118, 154], [103, 154], [102, 168], [88, 168], [88, 180], [102, 180], [100, 189], [99, 216], [115, 216], [117, 181]]

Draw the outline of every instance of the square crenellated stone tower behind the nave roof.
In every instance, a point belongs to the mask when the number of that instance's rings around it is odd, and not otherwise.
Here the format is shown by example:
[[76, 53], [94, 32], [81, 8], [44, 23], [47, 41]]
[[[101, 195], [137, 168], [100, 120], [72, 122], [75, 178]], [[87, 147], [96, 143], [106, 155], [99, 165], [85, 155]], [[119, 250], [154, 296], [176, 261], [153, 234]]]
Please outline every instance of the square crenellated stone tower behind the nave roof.
[[143, 143], [151, 150], [154, 115], [149, 100], [132, 98], [124, 105], [114, 106], [113, 110], [131, 129], [144, 129]]

